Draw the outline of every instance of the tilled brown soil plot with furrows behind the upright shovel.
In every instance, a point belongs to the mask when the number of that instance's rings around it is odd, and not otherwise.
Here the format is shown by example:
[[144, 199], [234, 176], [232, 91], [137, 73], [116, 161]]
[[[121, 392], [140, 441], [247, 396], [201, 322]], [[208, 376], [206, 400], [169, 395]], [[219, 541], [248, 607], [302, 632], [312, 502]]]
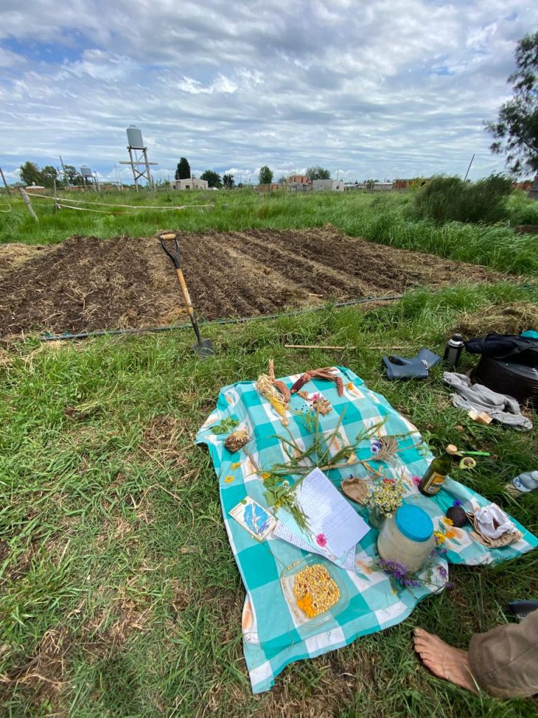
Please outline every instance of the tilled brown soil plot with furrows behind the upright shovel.
[[[207, 320], [500, 278], [471, 264], [350, 238], [331, 226], [178, 237], [194, 306]], [[0, 272], [1, 336], [185, 319], [174, 267], [155, 237], [75, 236], [22, 259]]]

